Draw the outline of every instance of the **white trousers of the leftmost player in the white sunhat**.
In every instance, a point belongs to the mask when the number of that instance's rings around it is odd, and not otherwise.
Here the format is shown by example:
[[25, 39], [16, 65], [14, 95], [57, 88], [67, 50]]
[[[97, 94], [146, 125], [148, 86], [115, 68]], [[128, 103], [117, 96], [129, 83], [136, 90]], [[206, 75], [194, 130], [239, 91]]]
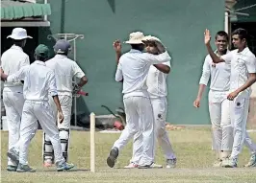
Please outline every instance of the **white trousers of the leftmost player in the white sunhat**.
[[[9, 144], [8, 149], [12, 149], [18, 143], [19, 129], [22, 115], [22, 108], [24, 104], [24, 97], [22, 86], [4, 87], [3, 89], [3, 103], [6, 109], [8, 130], [9, 130]], [[16, 163], [8, 158], [8, 165], [16, 166]]]

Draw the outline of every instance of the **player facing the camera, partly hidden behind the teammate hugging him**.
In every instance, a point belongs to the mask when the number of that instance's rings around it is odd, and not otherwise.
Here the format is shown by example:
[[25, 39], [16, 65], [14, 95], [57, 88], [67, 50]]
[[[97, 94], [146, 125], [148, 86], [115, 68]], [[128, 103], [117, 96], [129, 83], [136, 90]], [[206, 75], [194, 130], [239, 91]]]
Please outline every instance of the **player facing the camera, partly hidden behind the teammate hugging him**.
[[[143, 38], [145, 44], [145, 50], [149, 54], [159, 55], [159, 51], [155, 44], [150, 40], [161, 40], [155, 36], [147, 35]], [[119, 50], [118, 50], [119, 49]], [[116, 55], [121, 52], [121, 47], [115, 44]], [[117, 57], [117, 56], [116, 56]], [[158, 63], [151, 65], [149, 68], [146, 85], [149, 93], [150, 101], [153, 107], [153, 116], [155, 122], [155, 136], [158, 139], [159, 144], [164, 150], [166, 157], [166, 168], [174, 168], [176, 166], [176, 156], [170, 145], [167, 133], [166, 133], [166, 76], [170, 71], [170, 61], [164, 63]], [[139, 160], [141, 158], [142, 150], [142, 134], [141, 130], [135, 134], [133, 142], [133, 157], [128, 166], [125, 169], [133, 169], [138, 167]], [[156, 143], [155, 143], [156, 145]], [[156, 150], [156, 147], [155, 147]], [[162, 165], [153, 164], [151, 167], [163, 168]]]

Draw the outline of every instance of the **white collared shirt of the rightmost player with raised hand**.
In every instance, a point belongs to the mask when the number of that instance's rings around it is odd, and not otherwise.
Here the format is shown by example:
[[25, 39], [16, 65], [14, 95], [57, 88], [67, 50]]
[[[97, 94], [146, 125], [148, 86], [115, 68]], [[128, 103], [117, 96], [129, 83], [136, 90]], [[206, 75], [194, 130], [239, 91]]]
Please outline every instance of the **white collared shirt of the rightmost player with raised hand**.
[[[242, 52], [238, 49], [231, 51], [221, 57], [226, 63], [231, 64], [230, 91], [233, 92], [243, 86], [248, 80], [249, 73], [256, 73], [256, 58], [248, 49], [244, 48]], [[240, 93], [240, 96], [249, 98], [251, 88], [247, 88]]]

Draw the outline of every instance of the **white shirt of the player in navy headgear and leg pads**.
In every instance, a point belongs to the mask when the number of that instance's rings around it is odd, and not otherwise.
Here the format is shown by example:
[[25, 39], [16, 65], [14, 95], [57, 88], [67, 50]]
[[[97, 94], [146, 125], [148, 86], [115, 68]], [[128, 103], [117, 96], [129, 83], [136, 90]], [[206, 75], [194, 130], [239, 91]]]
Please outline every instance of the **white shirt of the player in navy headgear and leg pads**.
[[56, 55], [45, 63], [47, 67], [54, 70], [58, 94], [72, 96], [73, 77], [81, 79], [85, 76], [77, 63], [64, 55]]

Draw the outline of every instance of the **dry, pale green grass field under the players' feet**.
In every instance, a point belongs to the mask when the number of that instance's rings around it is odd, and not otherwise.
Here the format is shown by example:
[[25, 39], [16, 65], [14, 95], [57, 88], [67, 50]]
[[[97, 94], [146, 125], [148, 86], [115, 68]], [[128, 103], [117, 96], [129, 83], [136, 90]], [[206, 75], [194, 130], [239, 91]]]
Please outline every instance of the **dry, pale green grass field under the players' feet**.
[[[72, 131], [69, 162], [76, 168], [72, 172], [56, 172], [55, 168], [42, 167], [41, 140], [38, 130], [29, 149], [29, 163], [37, 169], [34, 173], [7, 172], [8, 132], [1, 132], [1, 182], [175, 182], [175, 183], [255, 183], [256, 168], [243, 168], [249, 158], [244, 148], [238, 169], [212, 168], [214, 154], [211, 150], [210, 128], [185, 128], [168, 132], [177, 155], [177, 168], [172, 170], [125, 170], [132, 155], [132, 143], [120, 152], [115, 169], [106, 165], [106, 158], [119, 134], [96, 132], [96, 172], [90, 172], [90, 132]], [[249, 133], [256, 141], [256, 133]], [[156, 162], [165, 165], [161, 149]]]

